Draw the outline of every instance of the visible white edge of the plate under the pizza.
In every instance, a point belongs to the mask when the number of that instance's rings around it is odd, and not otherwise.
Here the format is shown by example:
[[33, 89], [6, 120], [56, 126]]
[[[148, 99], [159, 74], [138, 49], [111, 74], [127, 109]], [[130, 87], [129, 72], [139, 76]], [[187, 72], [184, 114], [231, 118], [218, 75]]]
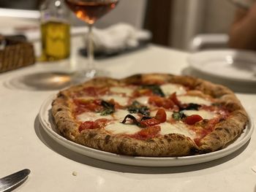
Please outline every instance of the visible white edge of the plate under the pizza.
[[58, 131], [56, 131], [56, 126], [53, 123], [53, 118], [50, 113], [50, 107], [53, 98], [54, 96], [50, 96], [50, 98], [45, 100], [39, 110], [40, 123], [42, 124], [42, 128], [44, 128], [48, 136], [53, 138], [60, 145], [69, 148], [69, 150], [89, 156], [91, 158], [97, 158], [102, 161], [109, 161], [116, 164], [126, 164], [133, 166], [184, 166], [213, 161], [215, 159], [230, 155], [231, 153], [238, 150], [250, 139], [253, 131], [252, 121], [250, 120], [249, 125], [246, 126], [246, 129], [244, 130], [244, 133], [241, 134], [241, 137], [236, 139], [236, 142], [233, 142], [233, 144], [229, 145], [225, 149], [203, 155], [192, 155], [177, 158], [133, 157], [128, 155], [117, 155], [114, 153], [107, 153], [101, 150], [95, 150], [90, 147], [85, 147], [83, 145], [78, 145], [75, 142], [71, 142], [58, 134]]

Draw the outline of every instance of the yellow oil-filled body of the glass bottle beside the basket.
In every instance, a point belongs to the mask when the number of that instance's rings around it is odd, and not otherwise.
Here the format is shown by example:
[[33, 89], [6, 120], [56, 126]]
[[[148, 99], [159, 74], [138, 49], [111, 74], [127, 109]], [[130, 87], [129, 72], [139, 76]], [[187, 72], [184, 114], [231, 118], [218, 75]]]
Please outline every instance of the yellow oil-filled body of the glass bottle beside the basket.
[[42, 60], [56, 61], [68, 58], [70, 53], [70, 26], [68, 23], [48, 21], [41, 25]]

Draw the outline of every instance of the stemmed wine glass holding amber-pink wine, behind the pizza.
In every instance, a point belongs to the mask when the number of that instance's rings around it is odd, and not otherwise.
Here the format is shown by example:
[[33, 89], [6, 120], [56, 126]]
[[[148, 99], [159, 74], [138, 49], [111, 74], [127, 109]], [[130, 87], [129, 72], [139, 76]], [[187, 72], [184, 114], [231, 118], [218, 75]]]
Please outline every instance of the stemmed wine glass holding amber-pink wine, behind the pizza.
[[78, 80], [90, 79], [96, 76], [103, 76], [105, 71], [95, 68], [94, 64], [94, 42], [92, 37], [92, 27], [94, 23], [106, 13], [114, 9], [119, 0], [65, 0], [69, 9], [75, 12], [80, 20], [85, 21], [89, 26], [88, 38], [86, 41], [86, 50], [88, 57], [88, 67], [85, 71], [78, 73]]

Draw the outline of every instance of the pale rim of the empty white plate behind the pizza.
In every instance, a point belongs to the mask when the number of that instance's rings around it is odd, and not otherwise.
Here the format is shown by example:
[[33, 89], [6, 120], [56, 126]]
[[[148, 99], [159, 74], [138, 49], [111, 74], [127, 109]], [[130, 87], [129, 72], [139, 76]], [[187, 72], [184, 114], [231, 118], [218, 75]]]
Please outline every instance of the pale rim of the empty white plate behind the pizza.
[[[213, 72], [209, 72], [207, 70], [204, 70], [201, 66], [200, 63], [202, 63], [203, 60], [205, 59], [200, 59], [197, 60], [197, 57], [200, 55], [206, 55], [206, 54], [210, 54], [210, 53], [214, 53], [214, 55], [225, 55], [225, 54], [229, 54], [229, 55], [234, 55], [236, 53], [240, 53], [242, 55], [253, 55], [256, 58], [256, 52], [254, 51], [250, 51], [250, 50], [234, 50], [234, 49], [219, 49], [219, 50], [214, 50], [214, 49], [210, 49], [210, 50], [202, 50], [202, 51], [198, 51], [196, 53], [192, 53], [189, 56], [187, 56], [187, 63], [189, 64], [189, 67], [191, 67], [192, 69], [196, 70], [197, 72], [201, 72], [203, 74], [207, 74], [210, 75], [212, 77], [218, 77], [221, 79], [225, 79], [225, 80], [231, 80], [234, 82], [249, 82], [249, 83], [256, 83], [256, 79], [252, 80], [252, 79], [244, 79], [241, 77], [228, 77], [222, 74], [217, 74], [217, 73], [213, 73]], [[211, 56], [211, 58], [221, 58], [220, 56]], [[243, 57], [244, 58], [244, 57]], [[197, 60], [197, 61], [196, 61]], [[252, 60], [252, 59], [251, 59]], [[249, 60], [249, 61], [251, 61]], [[256, 64], [256, 62], [255, 62]]]

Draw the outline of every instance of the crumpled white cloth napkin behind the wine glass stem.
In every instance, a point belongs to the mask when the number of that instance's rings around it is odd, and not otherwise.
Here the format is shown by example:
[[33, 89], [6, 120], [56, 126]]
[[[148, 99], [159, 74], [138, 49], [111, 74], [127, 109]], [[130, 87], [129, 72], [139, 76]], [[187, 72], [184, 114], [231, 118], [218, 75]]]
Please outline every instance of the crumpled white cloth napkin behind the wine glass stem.
[[118, 23], [104, 29], [93, 29], [94, 50], [98, 52], [108, 53], [132, 49], [138, 47], [140, 42], [146, 42], [149, 39], [151, 39], [149, 31], [138, 30], [126, 23]]

